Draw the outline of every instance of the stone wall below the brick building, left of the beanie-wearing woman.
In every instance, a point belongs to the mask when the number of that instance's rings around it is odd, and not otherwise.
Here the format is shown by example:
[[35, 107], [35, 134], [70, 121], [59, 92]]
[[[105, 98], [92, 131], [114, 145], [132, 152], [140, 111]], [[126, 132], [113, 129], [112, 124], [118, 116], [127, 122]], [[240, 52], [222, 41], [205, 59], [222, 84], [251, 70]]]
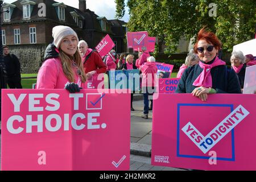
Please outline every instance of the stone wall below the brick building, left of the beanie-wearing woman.
[[10, 53], [18, 57], [22, 73], [38, 73], [46, 46], [46, 44], [23, 44], [9, 46], [9, 49]]

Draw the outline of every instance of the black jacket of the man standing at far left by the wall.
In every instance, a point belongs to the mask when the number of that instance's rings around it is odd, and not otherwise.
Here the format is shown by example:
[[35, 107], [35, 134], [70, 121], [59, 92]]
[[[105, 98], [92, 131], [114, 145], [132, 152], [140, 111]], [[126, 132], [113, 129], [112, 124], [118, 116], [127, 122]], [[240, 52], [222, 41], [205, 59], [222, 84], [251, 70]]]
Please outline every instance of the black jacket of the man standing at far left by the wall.
[[20, 63], [18, 57], [9, 53], [9, 55], [3, 58], [3, 62], [5, 64], [7, 77], [20, 77]]

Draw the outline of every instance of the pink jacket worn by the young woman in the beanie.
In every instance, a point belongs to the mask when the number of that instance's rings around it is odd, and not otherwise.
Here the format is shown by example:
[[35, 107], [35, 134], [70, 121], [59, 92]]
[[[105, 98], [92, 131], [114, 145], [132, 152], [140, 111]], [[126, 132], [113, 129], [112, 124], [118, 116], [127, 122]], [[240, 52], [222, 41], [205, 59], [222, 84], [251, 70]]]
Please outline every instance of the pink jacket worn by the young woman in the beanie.
[[[77, 68], [73, 68], [75, 75], [75, 83], [78, 83], [79, 76]], [[44, 61], [38, 72], [38, 80], [36, 81], [36, 89], [64, 89], [68, 78], [64, 75], [61, 60], [52, 58]], [[81, 88], [85, 88], [84, 83], [81, 83]]]

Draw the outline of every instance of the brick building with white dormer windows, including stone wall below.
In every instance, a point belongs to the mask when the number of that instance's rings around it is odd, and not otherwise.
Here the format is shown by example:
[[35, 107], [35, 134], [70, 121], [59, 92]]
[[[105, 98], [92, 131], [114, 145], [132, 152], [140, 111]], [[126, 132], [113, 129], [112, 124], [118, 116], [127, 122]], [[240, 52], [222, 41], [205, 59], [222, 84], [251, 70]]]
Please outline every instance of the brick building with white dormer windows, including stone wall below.
[[85, 0], [79, 0], [79, 9], [52, 0], [19, 0], [4, 3], [3, 11], [6, 10], [9, 13], [1, 15], [3, 44], [19, 57], [23, 73], [38, 71], [44, 49], [53, 41], [52, 28], [57, 25], [73, 28], [90, 48], [109, 34], [117, 44], [117, 52], [126, 52], [125, 22], [99, 17], [86, 9]]

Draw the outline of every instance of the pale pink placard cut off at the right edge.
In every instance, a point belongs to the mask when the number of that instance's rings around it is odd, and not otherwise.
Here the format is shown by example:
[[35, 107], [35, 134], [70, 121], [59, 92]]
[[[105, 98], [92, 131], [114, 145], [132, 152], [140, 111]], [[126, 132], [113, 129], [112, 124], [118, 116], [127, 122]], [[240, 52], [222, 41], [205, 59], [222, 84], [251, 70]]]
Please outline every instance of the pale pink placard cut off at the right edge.
[[253, 94], [256, 92], [256, 65], [246, 68], [243, 93]]

